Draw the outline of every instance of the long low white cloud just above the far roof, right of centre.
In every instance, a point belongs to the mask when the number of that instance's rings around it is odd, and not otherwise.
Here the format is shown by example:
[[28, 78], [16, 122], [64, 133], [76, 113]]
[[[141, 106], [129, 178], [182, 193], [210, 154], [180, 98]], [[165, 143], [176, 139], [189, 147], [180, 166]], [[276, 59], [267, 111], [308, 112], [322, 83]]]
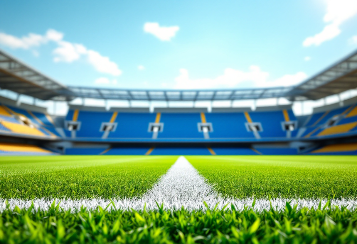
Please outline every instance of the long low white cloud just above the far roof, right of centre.
[[292, 86], [306, 79], [304, 72], [297, 72], [295, 75], [285, 75], [274, 81], [268, 81], [269, 73], [261, 71], [258, 66], [250, 66], [249, 71], [234, 70], [226, 68], [223, 75], [217, 78], [191, 79], [188, 71], [180, 69], [180, 75], [175, 78], [176, 89], [205, 89], [205, 88], [236, 88], [238, 86], [247, 87], [274, 87]]

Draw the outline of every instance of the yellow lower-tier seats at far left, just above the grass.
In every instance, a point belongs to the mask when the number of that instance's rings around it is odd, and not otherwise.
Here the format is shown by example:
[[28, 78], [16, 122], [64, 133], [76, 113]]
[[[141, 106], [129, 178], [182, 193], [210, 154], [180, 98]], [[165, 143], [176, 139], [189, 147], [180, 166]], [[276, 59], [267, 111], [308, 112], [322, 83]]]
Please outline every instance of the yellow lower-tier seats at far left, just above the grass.
[[55, 155], [55, 153], [30, 144], [0, 143], [0, 155]]

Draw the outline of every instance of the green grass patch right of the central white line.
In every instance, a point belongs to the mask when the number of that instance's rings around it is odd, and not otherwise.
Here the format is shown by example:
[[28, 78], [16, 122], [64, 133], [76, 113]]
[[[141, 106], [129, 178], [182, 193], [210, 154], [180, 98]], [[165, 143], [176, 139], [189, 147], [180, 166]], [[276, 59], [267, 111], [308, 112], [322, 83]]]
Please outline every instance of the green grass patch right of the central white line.
[[356, 156], [188, 156], [224, 196], [357, 197]]

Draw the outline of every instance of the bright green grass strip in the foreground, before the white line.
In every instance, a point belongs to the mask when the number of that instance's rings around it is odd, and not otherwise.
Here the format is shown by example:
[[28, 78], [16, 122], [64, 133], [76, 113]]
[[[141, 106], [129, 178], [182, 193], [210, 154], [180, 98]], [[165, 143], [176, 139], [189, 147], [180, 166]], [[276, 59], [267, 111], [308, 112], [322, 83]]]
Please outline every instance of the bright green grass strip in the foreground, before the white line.
[[251, 209], [130, 212], [0, 213], [0, 243], [357, 243], [357, 210], [325, 206], [255, 212]]

